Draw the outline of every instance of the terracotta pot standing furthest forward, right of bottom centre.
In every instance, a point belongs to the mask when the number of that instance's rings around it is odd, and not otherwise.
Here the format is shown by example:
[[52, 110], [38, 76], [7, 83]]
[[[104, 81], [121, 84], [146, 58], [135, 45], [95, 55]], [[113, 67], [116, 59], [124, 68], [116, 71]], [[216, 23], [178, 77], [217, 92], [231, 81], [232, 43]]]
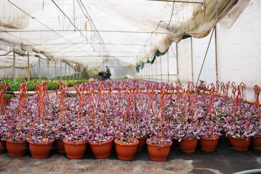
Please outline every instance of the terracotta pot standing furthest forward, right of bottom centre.
[[147, 142], [150, 159], [152, 159], [153, 161], [165, 161], [169, 154], [171, 144], [162, 145], [161, 147], [161, 145], [151, 144]]

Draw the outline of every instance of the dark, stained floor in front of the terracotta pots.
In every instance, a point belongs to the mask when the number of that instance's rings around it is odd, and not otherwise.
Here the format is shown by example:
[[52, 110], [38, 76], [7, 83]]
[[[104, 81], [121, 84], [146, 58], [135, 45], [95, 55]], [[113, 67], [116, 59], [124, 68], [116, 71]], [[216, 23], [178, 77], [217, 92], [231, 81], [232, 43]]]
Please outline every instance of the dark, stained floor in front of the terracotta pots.
[[28, 150], [24, 157], [0, 154], [0, 173], [235, 173], [261, 168], [261, 150], [251, 147], [239, 152], [232, 149], [226, 137], [219, 139], [214, 152], [184, 153], [171, 147], [166, 161], [152, 161], [145, 145], [133, 160], [120, 160], [116, 153], [105, 159], [96, 159], [92, 152], [84, 158], [69, 159], [54, 147], [48, 158], [35, 159]]

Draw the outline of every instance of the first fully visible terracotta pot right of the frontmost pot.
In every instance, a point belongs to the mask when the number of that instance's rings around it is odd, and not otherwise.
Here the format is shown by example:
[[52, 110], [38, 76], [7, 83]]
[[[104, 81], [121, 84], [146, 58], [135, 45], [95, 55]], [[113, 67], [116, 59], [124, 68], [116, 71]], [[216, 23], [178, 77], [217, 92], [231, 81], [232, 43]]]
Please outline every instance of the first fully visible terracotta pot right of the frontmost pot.
[[198, 143], [197, 138], [182, 138], [180, 142], [178, 142], [179, 148], [182, 152], [194, 152], [196, 150]]

